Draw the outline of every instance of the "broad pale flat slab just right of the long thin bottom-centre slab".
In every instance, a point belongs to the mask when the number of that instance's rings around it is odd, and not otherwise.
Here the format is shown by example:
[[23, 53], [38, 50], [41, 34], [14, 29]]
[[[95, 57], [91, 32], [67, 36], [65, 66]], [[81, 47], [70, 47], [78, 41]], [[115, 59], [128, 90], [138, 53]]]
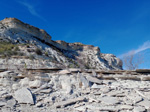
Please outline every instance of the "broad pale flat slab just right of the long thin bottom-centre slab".
[[118, 104], [120, 101], [118, 100], [118, 98], [116, 97], [110, 97], [110, 96], [106, 96], [106, 97], [100, 97], [99, 100], [107, 105], [115, 105]]

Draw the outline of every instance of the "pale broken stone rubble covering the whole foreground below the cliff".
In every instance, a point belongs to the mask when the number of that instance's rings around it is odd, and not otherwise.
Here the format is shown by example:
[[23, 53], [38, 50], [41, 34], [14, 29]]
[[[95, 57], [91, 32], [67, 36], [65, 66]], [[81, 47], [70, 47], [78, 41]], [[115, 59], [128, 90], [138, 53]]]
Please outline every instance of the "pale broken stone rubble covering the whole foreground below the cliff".
[[[99, 74], [68, 70], [0, 73], [1, 112], [149, 112], [150, 81], [119, 77], [150, 74]], [[60, 74], [61, 73], [61, 74]], [[63, 74], [62, 74], [63, 73]], [[99, 75], [102, 75], [101, 78]], [[17, 77], [18, 76], [18, 77]], [[34, 76], [34, 77], [33, 77]], [[103, 79], [103, 77], [114, 77]], [[14, 80], [14, 77], [16, 78]], [[128, 77], [129, 79], [129, 77]]]

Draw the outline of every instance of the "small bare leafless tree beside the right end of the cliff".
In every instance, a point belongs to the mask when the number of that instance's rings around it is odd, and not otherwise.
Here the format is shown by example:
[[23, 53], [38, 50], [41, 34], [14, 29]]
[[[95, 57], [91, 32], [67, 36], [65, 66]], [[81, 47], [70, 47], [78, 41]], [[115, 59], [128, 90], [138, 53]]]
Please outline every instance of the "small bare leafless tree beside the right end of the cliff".
[[123, 57], [124, 66], [127, 70], [135, 70], [143, 63], [142, 54], [136, 54], [135, 51], [131, 51]]

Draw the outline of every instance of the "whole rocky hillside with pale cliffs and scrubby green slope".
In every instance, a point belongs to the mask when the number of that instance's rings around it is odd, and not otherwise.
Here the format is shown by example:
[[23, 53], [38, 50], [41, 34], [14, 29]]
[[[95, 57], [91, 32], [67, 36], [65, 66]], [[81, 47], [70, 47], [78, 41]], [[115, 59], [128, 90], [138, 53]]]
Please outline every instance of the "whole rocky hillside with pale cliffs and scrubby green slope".
[[0, 21], [0, 43], [2, 68], [122, 69], [120, 59], [101, 53], [99, 47], [53, 41], [46, 31], [16, 18]]

